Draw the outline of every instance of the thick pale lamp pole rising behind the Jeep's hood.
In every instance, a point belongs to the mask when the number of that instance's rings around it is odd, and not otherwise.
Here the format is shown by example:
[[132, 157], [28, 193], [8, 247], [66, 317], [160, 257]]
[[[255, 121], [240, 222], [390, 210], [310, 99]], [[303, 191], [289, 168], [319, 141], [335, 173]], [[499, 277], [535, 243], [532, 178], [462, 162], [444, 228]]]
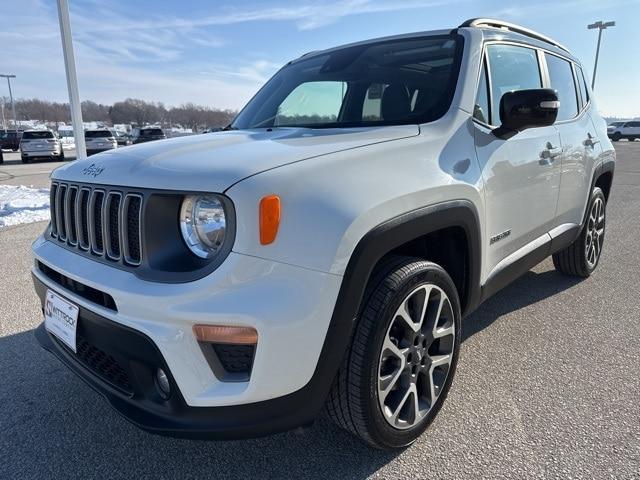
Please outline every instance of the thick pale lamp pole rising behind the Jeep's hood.
[[58, 0], [58, 19], [60, 21], [60, 35], [62, 37], [62, 52], [64, 53], [64, 68], [67, 73], [67, 88], [69, 89], [69, 107], [71, 108], [73, 136], [76, 142], [76, 158], [80, 160], [87, 158], [87, 148], [84, 143], [82, 109], [80, 106], [80, 93], [78, 92], [78, 76], [76, 74], [76, 60], [73, 55], [71, 22], [69, 20], [69, 4], [67, 0]]

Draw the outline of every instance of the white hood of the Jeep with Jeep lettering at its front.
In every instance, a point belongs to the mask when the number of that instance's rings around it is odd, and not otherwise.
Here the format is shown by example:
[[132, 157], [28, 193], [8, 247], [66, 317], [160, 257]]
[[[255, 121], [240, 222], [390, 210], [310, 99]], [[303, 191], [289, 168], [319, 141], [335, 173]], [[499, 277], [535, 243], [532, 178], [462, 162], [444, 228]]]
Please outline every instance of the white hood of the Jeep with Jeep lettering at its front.
[[239, 130], [110, 150], [56, 170], [57, 180], [124, 187], [223, 192], [288, 163], [418, 135], [417, 125], [350, 129]]

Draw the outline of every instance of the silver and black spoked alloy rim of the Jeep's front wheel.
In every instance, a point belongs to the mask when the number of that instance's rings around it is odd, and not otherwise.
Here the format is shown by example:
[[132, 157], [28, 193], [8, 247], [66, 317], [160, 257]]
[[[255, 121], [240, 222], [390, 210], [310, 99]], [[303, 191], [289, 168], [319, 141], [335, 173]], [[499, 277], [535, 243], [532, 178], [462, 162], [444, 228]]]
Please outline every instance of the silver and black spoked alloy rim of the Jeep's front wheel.
[[451, 302], [436, 285], [422, 285], [400, 304], [382, 344], [378, 402], [386, 421], [412, 428], [433, 408], [453, 360]]

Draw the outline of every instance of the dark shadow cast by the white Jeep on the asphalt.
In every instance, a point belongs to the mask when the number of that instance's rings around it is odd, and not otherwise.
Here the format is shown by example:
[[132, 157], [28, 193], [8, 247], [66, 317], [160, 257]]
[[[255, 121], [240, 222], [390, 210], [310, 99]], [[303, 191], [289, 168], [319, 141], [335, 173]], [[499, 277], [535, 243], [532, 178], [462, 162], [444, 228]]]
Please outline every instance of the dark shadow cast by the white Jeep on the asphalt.
[[[466, 319], [464, 339], [576, 283], [529, 272]], [[366, 478], [402, 454], [369, 448], [325, 417], [243, 441], [148, 434], [42, 350], [33, 331], [0, 337], [0, 375], [4, 478]], [[423, 461], [426, 472], [430, 460]]]

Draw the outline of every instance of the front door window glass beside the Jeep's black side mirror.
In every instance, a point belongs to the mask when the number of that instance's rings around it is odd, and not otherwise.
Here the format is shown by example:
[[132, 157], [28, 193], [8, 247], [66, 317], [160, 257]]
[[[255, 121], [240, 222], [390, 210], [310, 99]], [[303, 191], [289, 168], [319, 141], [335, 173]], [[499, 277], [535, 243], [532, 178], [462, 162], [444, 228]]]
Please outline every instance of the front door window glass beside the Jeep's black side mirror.
[[491, 74], [491, 124], [500, 125], [500, 99], [512, 90], [542, 87], [535, 50], [515, 45], [489, 45]]

